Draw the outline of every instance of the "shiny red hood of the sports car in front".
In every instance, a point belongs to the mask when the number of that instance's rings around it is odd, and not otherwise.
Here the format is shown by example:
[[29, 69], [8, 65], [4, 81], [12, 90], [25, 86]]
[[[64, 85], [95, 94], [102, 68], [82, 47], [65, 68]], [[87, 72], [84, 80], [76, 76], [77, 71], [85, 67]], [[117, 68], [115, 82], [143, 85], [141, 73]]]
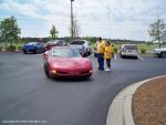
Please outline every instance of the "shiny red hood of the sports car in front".
[[90, 67], [91, 61], [85, 58], [52, 58], [51, 65], [56, 69]]

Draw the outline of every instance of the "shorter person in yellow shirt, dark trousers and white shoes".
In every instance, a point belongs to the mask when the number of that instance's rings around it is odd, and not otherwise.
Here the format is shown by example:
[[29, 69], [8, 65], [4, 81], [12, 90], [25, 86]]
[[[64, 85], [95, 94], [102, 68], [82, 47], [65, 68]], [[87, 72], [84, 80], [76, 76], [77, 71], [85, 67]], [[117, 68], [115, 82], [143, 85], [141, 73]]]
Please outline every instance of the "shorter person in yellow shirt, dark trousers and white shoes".
[[105, 49], [104, 49], [104, 59], [106, 61], [106, 70], [105, 71], [111, 71], [111, 60], [113, 56], [113, 46], [111, 45], [110, 41], [105, 42]]

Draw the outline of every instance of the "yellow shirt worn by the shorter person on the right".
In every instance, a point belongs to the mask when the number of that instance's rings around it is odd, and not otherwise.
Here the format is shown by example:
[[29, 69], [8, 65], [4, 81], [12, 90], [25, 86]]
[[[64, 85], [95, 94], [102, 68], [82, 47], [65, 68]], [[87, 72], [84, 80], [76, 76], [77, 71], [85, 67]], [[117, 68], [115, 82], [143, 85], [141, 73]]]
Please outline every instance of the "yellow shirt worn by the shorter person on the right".
[[112, 59], [113, 55], [113, 46], [108, 45], [104, 49], [104, 59]]

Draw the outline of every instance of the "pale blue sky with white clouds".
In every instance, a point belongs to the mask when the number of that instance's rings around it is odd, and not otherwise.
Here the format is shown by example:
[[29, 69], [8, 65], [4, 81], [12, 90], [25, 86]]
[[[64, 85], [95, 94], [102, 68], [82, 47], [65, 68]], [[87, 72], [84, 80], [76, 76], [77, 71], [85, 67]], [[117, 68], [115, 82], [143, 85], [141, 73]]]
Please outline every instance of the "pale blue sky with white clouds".
[[[166, 0], [74, 0], [81, 37], [149, 40], [149, 24], [166, 20]], [[0, 0], [0, 20], [14, 15], [21, 37], [70, 35], [71, 0]]]

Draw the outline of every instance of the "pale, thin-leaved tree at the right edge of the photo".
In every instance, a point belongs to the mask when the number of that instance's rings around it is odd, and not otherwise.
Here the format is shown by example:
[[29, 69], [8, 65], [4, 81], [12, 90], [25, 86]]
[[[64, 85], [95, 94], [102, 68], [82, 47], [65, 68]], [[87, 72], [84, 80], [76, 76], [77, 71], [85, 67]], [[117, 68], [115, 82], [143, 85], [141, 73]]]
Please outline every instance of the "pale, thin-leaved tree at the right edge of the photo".
[[160, 49], [160, 42], [165, 41], [166, 38], [166, 23], [162, 19], [157, 19], [156, 22], [149, 25], [148, 30], [149, 35], [154, 41], [157, 41], [159, 43]]

